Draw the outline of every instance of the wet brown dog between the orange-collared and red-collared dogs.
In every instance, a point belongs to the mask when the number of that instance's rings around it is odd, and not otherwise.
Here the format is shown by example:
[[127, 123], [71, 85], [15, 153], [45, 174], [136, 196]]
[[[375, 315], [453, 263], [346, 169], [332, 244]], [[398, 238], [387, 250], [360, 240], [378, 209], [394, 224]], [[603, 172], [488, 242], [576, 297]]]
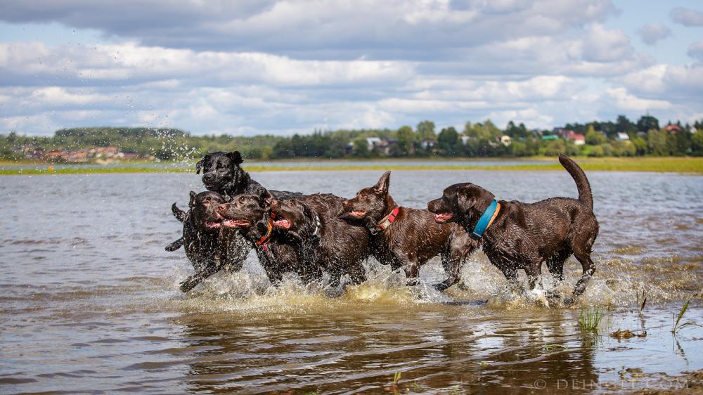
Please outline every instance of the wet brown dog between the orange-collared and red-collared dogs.
[[[341, 294], [342, 276], [354, 285], [366, 281], [361, 262], [368, 258], [368, 231], [340, 219], [344, 199], [329, 193], [271, 202], [276, 241], [292, 245], [305, 266], [318, 266], [330, 274], [330, 287]], [[340, 287], [341, 286], [341, 287]]]

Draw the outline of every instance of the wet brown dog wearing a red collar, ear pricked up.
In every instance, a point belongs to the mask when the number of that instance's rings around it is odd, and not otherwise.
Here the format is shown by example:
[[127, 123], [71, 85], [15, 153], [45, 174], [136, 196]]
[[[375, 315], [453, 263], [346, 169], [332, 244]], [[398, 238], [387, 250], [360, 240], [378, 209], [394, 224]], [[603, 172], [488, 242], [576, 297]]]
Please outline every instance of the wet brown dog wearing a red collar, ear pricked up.
[[466, 257], [477, 247], [457, 224], [437, 224], [426, 209], [399, 207], [388, 193], [390, 171], [375, 186], [363, 188], [343, 203], [344, 216], [363, 221], [372, 233], [373, 254], [392, 270], [404, 268], [408, 285], [418, 283], [420, 266], [441, 256], [449, 278], [435, 285], [446, 290], [459, 280]]

